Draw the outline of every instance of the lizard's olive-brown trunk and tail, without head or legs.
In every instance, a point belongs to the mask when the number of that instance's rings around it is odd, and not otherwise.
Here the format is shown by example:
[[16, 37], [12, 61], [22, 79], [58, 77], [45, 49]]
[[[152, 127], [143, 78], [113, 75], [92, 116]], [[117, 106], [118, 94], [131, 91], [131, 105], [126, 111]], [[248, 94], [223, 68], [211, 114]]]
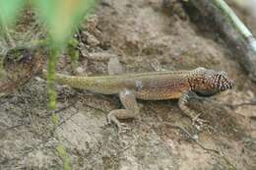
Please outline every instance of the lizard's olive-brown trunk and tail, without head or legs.
[[73, 77], [57, 74], [56, 81], [59, 84], [102, 94], [119, 93], [120, 90], [127, 88], [135, 91], [137, 98], [160, 100], [179, 98], [184, 91], [189, 90], [187, 80], [189, 73], [189, 71], [166, 71], [102, 77]]

